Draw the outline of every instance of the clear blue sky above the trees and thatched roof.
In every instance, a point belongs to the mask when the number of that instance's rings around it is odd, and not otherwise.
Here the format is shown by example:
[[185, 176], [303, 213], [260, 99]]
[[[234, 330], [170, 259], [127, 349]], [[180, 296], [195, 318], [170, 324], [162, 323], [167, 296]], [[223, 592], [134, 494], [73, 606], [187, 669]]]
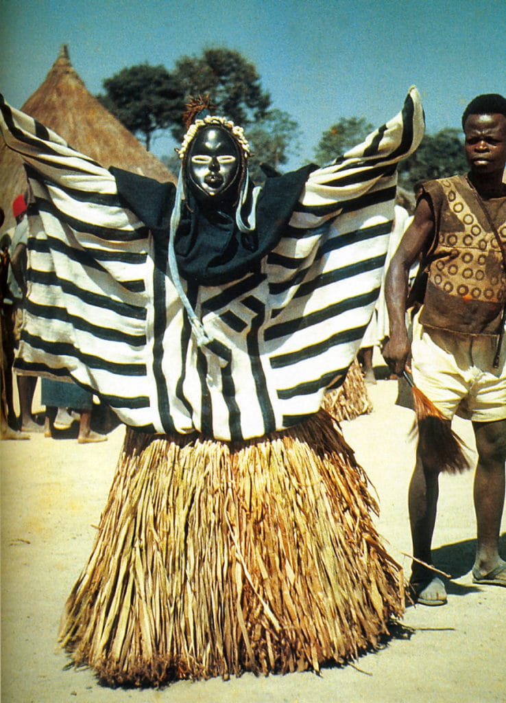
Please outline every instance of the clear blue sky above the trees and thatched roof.
[[[427, 131], [460, 127], [478, 93], [506, 93], [505, 0], [2, 0], [0, 89], [15, 107], [37, 89], [62, 44], [91, 93], [126, 66], [168, 70], [207, 46], [237, 49], [273, 107], [302, 129], [299, 161], [340, 117], [381, 124], [408, 88]], [[159, 140], [155, 153], [171, 144]], [[298, 165], [298, 164], [294, 164]]]

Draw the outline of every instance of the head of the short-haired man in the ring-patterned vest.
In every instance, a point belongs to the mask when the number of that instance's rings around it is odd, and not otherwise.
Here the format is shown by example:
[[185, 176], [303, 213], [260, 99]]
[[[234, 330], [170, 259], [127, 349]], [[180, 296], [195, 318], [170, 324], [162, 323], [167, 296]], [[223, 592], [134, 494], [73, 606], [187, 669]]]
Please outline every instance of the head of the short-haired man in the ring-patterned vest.
[[476, 174], [502, 174], [506, 165], [506, 98], [488, 93], [474, 98], [462, 115], [465, 155]]

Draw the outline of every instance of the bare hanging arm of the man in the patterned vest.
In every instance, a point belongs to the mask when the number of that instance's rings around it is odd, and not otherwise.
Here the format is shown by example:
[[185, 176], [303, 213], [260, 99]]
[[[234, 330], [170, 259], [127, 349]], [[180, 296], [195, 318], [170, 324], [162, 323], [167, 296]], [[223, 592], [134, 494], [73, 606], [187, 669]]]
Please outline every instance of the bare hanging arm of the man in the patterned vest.
[[382, 349], [383, 358], [394, 373], [401, 375], [410, 351], [406, 330], [406, 299], [411, 264], [434, 235], [434, 215], [426, 198], [421, 198], [413, 222], [392, 257], [385, 278], [385, 299], [390, 322], [390, 337]]

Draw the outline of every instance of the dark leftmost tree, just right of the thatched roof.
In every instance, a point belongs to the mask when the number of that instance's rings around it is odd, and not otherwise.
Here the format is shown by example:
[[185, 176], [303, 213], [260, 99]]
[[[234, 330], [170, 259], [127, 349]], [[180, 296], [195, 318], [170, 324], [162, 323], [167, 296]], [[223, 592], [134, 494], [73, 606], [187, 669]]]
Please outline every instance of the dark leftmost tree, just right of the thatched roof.
[[164, 66], [124, 68], [102, 85], [105, 94], [97, 98], [126, 129], [142, 136], [147, 150], [154, 132], [171, 127], [184, 110], [182, 88]]

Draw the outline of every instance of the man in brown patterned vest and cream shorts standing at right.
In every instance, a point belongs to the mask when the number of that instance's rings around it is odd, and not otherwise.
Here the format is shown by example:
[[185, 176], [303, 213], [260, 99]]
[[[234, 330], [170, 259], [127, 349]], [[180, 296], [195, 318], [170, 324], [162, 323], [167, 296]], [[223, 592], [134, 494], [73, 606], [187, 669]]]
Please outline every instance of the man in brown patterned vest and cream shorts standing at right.
[[[470, 171], [423, 184], [413, 224], [387, 272], [390, 339], [383, 356], [394, 373], [403, 372], [410, 352], [408, 273], [421, 254], [427, 288], [413, 321], [413, 380], [448, 423], [455, 414], [472, 420], [478, 453], [473, 581], [506, 586], [498, 550], [506, 461], [506, 98], [474, 98], [462, 128]], [[408, 503], [413, 555], [430, 565], [440, 467], [427, 457], [431, 438], [421, 424], [419, 432]], [[411, 586], [422, 604], [446, 603], [445, 584], [420, 562], [413, 562]]]

